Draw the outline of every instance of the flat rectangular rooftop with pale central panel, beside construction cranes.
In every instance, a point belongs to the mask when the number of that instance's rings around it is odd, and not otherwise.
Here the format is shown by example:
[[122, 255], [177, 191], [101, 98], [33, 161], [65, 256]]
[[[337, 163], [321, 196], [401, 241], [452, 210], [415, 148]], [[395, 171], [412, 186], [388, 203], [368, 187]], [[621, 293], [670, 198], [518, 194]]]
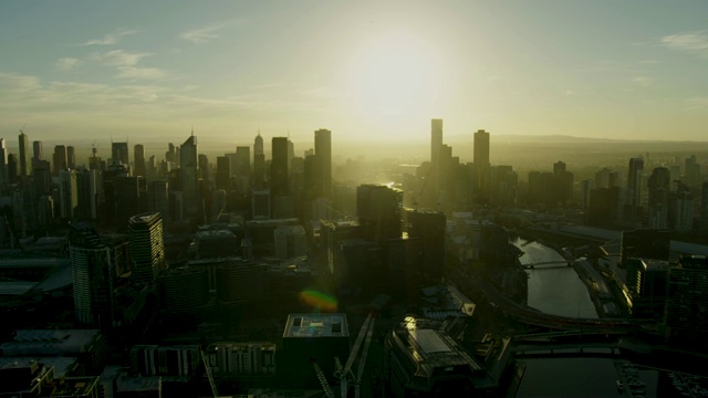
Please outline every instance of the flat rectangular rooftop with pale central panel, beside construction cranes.
[[290, 314], [283, 337], [348, 337], [345, 314]]

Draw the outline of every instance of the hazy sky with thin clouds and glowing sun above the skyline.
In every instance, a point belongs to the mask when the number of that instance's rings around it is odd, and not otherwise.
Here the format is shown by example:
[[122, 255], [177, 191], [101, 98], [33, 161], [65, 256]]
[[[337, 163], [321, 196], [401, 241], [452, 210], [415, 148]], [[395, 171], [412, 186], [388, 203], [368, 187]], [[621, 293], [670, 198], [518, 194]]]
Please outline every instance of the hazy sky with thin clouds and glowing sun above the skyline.
[[706, 140], [708, 2], [3, 1], [0, 137]]

